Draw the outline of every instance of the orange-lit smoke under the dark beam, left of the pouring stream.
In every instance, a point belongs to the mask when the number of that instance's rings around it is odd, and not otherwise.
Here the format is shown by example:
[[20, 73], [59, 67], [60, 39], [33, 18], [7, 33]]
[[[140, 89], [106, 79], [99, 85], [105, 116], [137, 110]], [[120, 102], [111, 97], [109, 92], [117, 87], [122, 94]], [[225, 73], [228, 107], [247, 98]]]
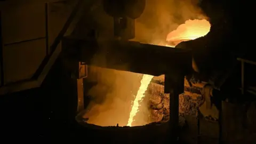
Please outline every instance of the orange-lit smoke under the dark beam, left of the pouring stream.
[[97, 85], [89, 90], [92, 101], [84, 117], [89, 117], [89, 123], [101, 126], [125, 126], [142, 74], [93, 66], [89, 70], [87, 80]]

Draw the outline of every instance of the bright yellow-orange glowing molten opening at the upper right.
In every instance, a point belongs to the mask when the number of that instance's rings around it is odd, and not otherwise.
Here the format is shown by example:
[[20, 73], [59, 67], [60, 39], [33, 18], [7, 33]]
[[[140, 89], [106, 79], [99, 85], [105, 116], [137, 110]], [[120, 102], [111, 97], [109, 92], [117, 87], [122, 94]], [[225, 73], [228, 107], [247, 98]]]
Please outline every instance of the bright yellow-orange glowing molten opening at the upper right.
[[207, 20], [187, 20], [167, 35], [167, 45], [175, 47], [181, 42], [193, 40], [209, 33], [211, 24]]

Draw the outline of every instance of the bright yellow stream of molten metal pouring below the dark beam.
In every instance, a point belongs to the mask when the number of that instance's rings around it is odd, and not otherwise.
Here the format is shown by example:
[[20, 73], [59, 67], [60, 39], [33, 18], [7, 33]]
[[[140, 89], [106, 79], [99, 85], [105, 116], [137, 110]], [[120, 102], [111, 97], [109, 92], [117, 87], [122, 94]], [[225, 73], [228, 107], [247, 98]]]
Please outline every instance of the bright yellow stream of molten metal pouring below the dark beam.
[[145, 97], [145, 91], [147, 90], [148, 85], [153, 77], [154, 76], [151, 76], [151, 75], [143, 75], [141, 79], [141, 85], [140, 85], [139, 91], [137, 92], [135, 100], [133, 101], [133, 106], [132, 106], [132, 110], [130, 113], [127, 126], [132, 126], [132, 122], [134, 121], [133, 118], [139, 111], [139, 106], [140, 106], [139, 101], [142, 101], [143, 98]]

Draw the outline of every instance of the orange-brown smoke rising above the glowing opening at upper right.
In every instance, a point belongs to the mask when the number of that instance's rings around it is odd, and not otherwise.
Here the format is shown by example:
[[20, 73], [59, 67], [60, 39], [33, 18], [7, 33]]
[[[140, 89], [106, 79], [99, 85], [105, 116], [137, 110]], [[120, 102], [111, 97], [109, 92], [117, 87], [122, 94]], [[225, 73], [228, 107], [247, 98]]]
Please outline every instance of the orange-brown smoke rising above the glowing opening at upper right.
[[136, 21], [135, 41], [165, 44], [167, 34], [189, 19], [207, 19], [197, 0], [147, 0], [145, 11]]

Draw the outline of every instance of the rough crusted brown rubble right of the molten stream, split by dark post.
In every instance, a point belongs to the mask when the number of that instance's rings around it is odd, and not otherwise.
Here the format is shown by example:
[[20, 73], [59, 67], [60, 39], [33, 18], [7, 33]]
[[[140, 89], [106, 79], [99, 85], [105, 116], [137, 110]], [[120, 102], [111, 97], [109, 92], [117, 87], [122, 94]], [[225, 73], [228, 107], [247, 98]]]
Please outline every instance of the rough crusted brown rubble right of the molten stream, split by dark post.
[[[152, 122], [167, 121], [169, 119], [169, 94], [164, 93], [164, 85], [151, 82], [147, 94], [149, 98], [150, 119]], [[202, 105], [202, 96], [192, 97], [188, 93], [179, 95], [179, 114], [197, 115], [198, 107]]]

